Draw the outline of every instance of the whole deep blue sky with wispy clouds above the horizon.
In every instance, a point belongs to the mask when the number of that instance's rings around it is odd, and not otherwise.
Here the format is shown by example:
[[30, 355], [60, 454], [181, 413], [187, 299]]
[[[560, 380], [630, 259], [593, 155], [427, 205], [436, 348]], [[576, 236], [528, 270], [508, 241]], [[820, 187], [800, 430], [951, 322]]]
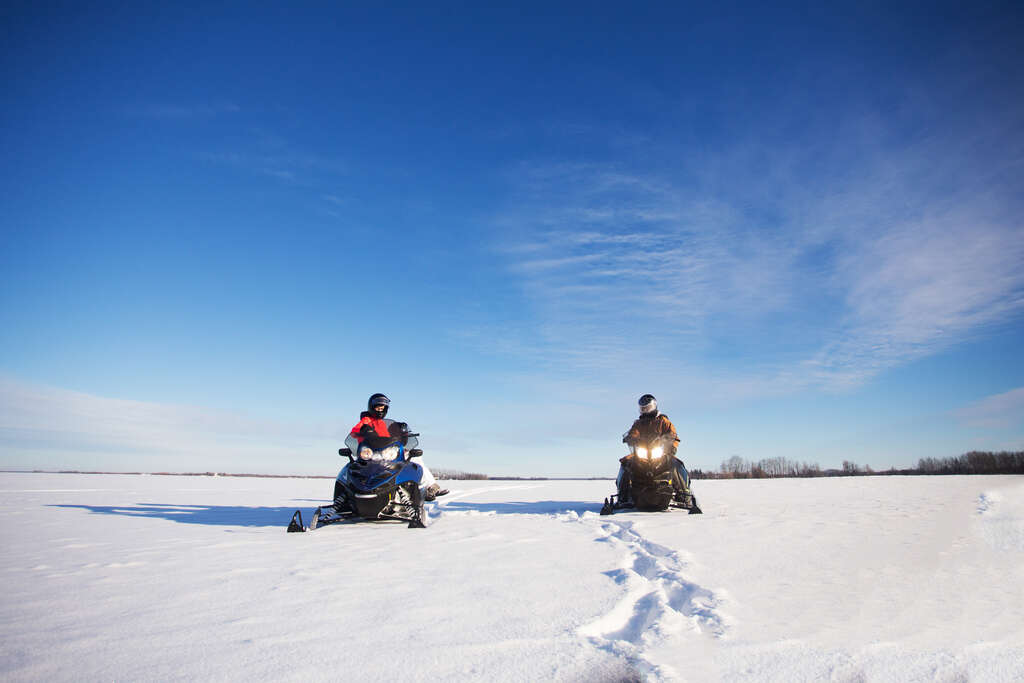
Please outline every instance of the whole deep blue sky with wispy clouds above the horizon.
[[0, 466], [1024, 449], [1014, 3], [15, 3]]

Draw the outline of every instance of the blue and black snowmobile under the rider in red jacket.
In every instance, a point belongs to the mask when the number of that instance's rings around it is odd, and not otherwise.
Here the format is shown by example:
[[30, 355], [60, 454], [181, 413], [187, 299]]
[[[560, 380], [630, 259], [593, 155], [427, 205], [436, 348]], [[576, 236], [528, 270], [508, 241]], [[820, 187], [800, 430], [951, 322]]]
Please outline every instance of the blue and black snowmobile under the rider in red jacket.
[[423, 455], [416, 447], [419, 434], [410, 432], [404, 422], [386, 422], [390, 436], [383, 443], [371, 445], [368, 438], [360, 444], [348, 435], [347, 447], [338, 450], [339, 456], [348, 458], [348, 464], [334, 482], [334, 502], [316, 508], [308, 527], [302, 525], [302, 511], [296, 510], [289, 531], [311, 531], [352, 518], [397, 519], [408, 521], [409, 528], [426, 527], [420, 490], [423, 466], [412, 460]]

